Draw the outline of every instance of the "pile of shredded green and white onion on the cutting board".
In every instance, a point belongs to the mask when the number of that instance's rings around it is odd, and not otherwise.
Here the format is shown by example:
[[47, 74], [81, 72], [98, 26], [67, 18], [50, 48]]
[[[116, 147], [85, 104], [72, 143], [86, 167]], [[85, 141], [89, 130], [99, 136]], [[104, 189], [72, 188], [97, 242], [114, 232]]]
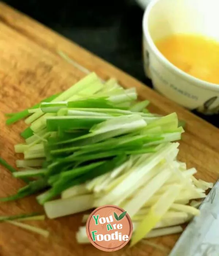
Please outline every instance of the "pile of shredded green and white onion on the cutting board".
[[[197, 180], [196, 169], [177, 161], [183, 127], [176, 113], [166, 116], [137, 101], [135, 88], [115, 79], [103, 83], [91, 73], [68, 90], [34, 107], [12, 114], [28, 126], [15, 145], [22, 168], [13, 172], [26, 186], [1, 201], [37, 194], [47, 217], [57, 218], [117, 205], [134, 223], [131, 244], [142, 238], [182, 231], [181, 224], [199, 214], [199, 201], [212, 184]], [[86, 221], [87, 216], [83, 218]], [[78, 242], [89, 242], [85, 227]]]

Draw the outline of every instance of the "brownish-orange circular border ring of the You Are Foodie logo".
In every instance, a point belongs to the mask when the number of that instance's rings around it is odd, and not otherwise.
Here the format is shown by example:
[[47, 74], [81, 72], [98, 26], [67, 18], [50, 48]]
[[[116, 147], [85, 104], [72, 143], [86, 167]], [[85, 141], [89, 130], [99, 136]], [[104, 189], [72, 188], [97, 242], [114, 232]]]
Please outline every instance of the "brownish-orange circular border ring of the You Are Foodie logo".
[[[119, 246], [117, 247], [112, 247], [112, 248], [106, 248], [106, 247], [103, 247], [101, 245], [99, 245], [97, 242], [93, 241], [92, 239], [92, 236], [91, 236], [91, 230], [90, 230], [90, 222], [91, 220], [94, 221], [93, 219], [93, 215], [95, 215], [99, 210], [102, 210], [104, 208], [113, 208], [115, 210], [119, 210], [121, 213], [124, 212], [124, 210], [118, 206], [115, 206], [115, 205], [104, 205], [104, 206], [100, 206], [98, 208], [96, 208], [89, 216], [88, 220], [87, 220], [87, 223], [86, 223], [86, 232], [87, 232], [87, 236], [88, 236], [88, 239], [89, 241], [91, 242], [91, 244], [93, 246], [95, 246], [97, 249], [100, 249], [101, 251], [105, 251], [105, 252], [114, 252], [114, 251], [118, 251], [119, 249], [123, 248], [131, 239], [131, 236], [132, 236], [132, 232], [133, 232], [133, 225], [132, 225], [132, 221], [131, 221], [131, 218], [130, 216], [128, 215], [128, 213], [126, 213], [125, 217], [128, 221], [128, 225], [129, 225], [129, 233], [128, 233], [128, 240], [127, 241], [124, 241], [122, 244], [120, 244]], [[101, 225], [101, 224], [100, 224]], [[115, 231], [118, 231], [118, 230], [115, 230]]]

